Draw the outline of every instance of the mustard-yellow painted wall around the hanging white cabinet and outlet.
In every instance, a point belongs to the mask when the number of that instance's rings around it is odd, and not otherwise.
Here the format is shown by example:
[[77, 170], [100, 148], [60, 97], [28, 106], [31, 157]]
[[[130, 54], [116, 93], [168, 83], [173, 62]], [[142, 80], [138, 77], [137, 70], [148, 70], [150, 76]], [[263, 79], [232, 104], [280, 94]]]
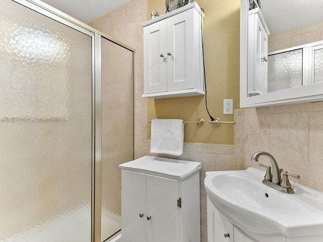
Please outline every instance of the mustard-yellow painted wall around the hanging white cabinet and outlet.
[[[156, 10], [165, 14], [165, 1], [148, 0], [148, 17]], [[233, 98], [239, 107], [239, 41], [240, 0], [198, 0], [204, 10], [204, 64], [207, 103], [210, 114], [231, 121], [233, 115], [223, 114], [223, 99]], [[199, 117], [210, 120], [205, 108], [205, 96], [148, 100], [148, 119], [181, 118], [194, 121]], [[208, 123], [203, 127], [186, 125], [185, 142], [234, 144], [234, 127], [215, 128]]]

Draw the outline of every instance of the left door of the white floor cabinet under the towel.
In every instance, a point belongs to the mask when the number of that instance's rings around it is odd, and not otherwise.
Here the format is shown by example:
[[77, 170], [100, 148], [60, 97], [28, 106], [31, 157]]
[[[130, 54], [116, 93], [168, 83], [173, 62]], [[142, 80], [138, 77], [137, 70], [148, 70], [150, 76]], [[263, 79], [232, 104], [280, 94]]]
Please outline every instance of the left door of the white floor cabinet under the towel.
[[145, 242], [146, 175], [128, 170], [121, 172], [122, 242]]

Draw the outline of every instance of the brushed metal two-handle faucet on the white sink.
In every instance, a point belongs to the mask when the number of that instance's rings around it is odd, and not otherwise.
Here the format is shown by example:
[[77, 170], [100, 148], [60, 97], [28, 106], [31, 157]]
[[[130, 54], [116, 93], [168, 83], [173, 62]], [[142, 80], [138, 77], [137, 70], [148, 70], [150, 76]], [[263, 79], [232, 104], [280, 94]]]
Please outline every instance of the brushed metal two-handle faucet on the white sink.
[[[254, 153], [250, 160], [258, 162], [258, 159], [261, 155], [267, 156], [272, 162], [272, 167], [273, 167], [273, 173], [272, 173], [271, 166], [259, 163], [260, 166], [267, 168], [266, 174], [264, 176], [264, 179], [262, 180], [262, 183], [283, 193], [294, 193], [294, 190], [292, 189], [291, 184], [289, 183], [288, 176], [292, 176], [297, 179], [299, 179], [300, 176], [297, 174], [288, 173], [287, 171], [283, 171], [283, 169], [280, 169], [278, 167], [278, 164], [274, 156], [265, 151], [258, 151]], [[283, 172], [283, 178], [282, 178], [281, 172]]]

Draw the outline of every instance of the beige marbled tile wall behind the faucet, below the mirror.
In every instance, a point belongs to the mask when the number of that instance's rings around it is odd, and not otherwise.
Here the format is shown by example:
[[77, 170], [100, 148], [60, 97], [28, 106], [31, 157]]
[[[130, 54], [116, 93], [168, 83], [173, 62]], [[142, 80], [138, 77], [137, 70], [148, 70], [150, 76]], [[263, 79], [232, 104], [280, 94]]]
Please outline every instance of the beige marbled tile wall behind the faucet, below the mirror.
[[[301, 176], [290, 180], [323, 192], [323, 102], [240, 109], [235, 116], [244, 123], [236, 132], [236, 147], [244, 146], [245, 168], [259, 168], [250, 157], [267, 151], [280, 168]], [[266, 157], [260, 158], [270, 164]]]

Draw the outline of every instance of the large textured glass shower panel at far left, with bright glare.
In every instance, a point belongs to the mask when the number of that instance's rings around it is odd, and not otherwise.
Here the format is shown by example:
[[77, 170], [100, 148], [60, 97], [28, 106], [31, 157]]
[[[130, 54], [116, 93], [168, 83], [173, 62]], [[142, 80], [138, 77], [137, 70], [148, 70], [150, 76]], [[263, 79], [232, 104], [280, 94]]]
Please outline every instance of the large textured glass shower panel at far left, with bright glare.
[[0, 1], [0, 241], [91, 241], [92, 37]]

